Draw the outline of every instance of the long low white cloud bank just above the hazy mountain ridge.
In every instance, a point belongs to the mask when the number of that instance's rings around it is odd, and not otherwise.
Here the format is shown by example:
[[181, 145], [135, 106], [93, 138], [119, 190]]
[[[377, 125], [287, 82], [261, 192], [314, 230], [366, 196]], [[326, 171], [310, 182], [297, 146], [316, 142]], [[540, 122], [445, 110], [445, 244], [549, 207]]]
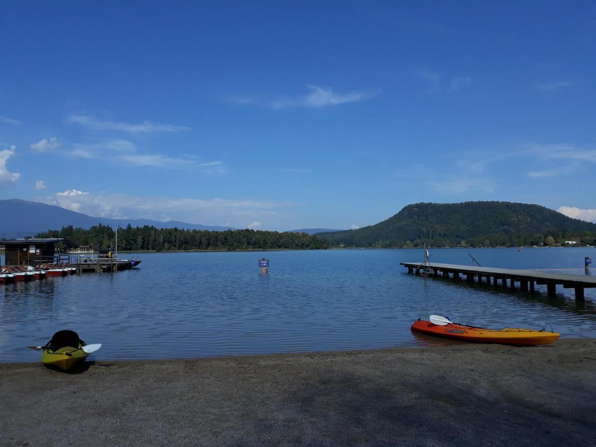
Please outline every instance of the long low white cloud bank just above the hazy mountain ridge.
[[[260, 223], [279, 215], [287, 202], [233, 200], [225, 198], [138, 197], [127, 194], [86, 193], [76, 189], [42, 199], [45, 203], [91, 216], [122, 219], [176, 220], [193, 224], [226, 222], [246, 228], [242, 222]], [[232, 225], [230, 224], [232, 222]], [[235, 224], [233, 224], [235, 222]]]

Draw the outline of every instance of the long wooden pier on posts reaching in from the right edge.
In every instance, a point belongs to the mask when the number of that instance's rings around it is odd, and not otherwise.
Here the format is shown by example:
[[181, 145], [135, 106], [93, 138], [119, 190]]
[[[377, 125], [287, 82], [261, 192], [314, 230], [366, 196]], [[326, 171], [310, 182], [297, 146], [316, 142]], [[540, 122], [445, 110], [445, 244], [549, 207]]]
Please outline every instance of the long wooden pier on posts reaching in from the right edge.
[[492, 284], [496, 287], [500, 281], [502, 287], [529, 291], [530, 293], [535, 291], [535, 284], [546, 285], [548, 296], [555, 296], [557, 294], [557, 285], [563, 285], [564, 288], [575, 289], [575, 299], [578, 301], [584, 300], [583, 290], [585, 288], [596, 287], [596, 277], [581, 275], [440, 264], [434, 262], [427, 263], [426, 265], [420, 262], [401, 262], [400, 264], [407, 267], [410, 274], [426, 274], [433, 277], [441, 276], [443, 278], [450, 278], [449, 275], [451, 275], [451, 278], [454, 280], [461, 280], [462, 277], [460, 275], [463, 275], [465, 281], [468, 283], [477, 281], [479, 284]]

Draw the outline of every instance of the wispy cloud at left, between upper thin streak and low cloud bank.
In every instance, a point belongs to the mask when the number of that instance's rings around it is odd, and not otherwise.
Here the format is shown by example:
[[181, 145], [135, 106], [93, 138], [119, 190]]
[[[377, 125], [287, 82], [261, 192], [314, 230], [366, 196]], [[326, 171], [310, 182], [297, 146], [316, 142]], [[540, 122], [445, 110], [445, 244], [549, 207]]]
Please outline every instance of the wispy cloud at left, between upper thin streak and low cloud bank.
[[70, 155], [84, 159], [117, 161], [131, 166], [153, 166], [163, 169], [201, 170], [207, 173], [222, 173], [225, 169], [219, 160], [205, 162], [201, 157], [181, 154], [142, 153], [132, 141], [122, 139], [105, 140], [94, 144], [76, 144]]

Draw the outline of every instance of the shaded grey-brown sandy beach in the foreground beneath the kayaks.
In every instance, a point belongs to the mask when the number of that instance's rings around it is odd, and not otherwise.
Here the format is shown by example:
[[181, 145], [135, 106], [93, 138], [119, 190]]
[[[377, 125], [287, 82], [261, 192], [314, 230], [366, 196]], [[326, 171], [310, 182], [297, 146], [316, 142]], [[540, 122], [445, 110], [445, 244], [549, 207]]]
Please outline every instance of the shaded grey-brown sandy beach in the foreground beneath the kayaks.
[[596, 340], [0, 364], [1, 445], [594, 445]]

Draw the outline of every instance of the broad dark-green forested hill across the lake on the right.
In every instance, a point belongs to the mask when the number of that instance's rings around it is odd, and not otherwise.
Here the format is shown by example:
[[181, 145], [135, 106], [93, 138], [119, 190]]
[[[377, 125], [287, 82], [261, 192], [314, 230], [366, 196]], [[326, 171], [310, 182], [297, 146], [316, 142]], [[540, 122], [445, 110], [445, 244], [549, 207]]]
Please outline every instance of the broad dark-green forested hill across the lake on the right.
[[376, 225], [319, 237], [346, 247], [527, 246], [566, 240], [592, 244], [596, 224], [525, 203], [415, 203]]

